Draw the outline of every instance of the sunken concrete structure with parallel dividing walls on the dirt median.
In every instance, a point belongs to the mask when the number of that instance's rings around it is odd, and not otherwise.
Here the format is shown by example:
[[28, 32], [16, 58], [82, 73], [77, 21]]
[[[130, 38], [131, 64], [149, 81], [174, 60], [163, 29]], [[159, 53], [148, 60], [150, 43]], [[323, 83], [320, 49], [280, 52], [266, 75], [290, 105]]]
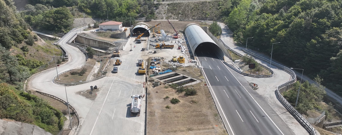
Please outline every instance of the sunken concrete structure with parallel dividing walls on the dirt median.
[[162, 75], [155, 76], [155, 79], [167, 84], [177, 84], [177, 85], [192, 85], [199, 83], [199, 80], [182, 75], [176, 72], [169, 72]]

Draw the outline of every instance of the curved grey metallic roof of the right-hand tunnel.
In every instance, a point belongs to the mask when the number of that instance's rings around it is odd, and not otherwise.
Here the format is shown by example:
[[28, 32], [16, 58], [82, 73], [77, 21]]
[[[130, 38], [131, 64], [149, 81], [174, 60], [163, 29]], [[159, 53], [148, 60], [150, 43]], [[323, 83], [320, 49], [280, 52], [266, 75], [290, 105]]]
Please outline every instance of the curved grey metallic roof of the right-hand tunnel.
[[195, 50], [198, 45], [202, 43], [215, 44], [218, 46], [214, 40], [212, 40], [209, 35], [197, 24], [190, 23], [185, 27], [185, 36], [189, 42], [190, 49], [195, 56]]

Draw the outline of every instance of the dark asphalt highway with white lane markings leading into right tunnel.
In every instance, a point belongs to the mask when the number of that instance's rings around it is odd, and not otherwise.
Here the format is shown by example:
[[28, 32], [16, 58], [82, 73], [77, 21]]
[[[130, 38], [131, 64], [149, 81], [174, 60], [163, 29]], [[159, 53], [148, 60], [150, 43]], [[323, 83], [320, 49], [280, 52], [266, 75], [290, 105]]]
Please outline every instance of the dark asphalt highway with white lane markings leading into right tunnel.
[[231, 72], [215, 51], [199, 49], [196, 56], [229, 135], [294, 134], [240, 74]]

